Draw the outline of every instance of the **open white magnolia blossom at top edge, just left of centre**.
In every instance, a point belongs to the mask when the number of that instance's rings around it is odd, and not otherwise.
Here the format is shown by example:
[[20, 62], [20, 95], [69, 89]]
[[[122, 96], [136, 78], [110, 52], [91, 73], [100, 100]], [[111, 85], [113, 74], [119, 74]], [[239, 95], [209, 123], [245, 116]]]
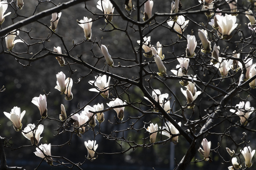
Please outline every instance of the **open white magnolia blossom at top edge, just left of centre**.
[[[103, 11], [104, 14], [113, 14], [114, 8], [110, 0], [99, 0], [97, 4], [98, 4], [97, 8]], [[106, 15], [106, 18], [109, 20], [109, 22], [111, 22], [113, 19], [113, 15]], [[105, 22], [108, 22], [108, 21], [105, 19]]]

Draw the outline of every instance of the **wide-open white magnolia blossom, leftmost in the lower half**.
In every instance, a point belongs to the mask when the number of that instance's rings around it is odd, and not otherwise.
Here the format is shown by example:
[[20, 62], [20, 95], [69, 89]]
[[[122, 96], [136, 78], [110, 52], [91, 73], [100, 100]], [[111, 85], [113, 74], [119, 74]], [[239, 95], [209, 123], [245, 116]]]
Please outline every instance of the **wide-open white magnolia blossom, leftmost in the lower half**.
[[21, 112], [21, 108], [20, 107], [13, 107], [10, 113], [4, 112], [4, 115], [10, 119], [10, 121], [12, 121], [12, 125], [13, 128], [16, 131], [20, 131], [21, 127], [22, 127], [22, 123], [21, 120], [23, 118], [23, 116], [25, 115], [26, 111], [24, 110], [23, 112]]

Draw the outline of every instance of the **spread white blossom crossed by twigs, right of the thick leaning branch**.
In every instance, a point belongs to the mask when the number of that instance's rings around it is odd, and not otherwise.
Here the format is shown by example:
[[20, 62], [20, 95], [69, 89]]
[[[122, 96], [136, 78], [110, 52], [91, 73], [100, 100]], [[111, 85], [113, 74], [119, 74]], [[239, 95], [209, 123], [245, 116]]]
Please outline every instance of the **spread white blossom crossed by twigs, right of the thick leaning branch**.
[[230, 109], [230, 112], [240, 117], [240, 122], [244, 126], [247, 125], [249, 116], [254, 112], [254, 107], [250, 107], [250, 105], [250, 101], [247, 101], [245, 105], [244, 101], [240, 101], [239, 104], [235, 105], [236, 110]]

